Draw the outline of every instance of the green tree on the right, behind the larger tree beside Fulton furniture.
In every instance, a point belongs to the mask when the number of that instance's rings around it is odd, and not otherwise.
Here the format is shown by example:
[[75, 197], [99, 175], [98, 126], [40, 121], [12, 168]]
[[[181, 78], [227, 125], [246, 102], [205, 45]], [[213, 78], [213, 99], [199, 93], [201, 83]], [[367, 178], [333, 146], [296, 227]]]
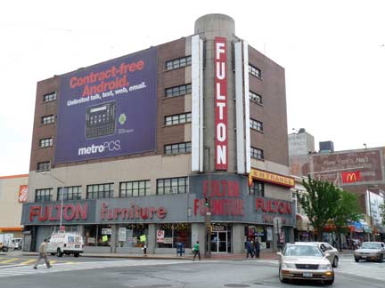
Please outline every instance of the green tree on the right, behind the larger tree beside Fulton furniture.
[[340, 236], [348, 233], [348, 220], [357, 221], [361, 218], [360, 216], [356, 195], [340, 189], [340, 199], [333, 219], [340, 250], [342, 247]]

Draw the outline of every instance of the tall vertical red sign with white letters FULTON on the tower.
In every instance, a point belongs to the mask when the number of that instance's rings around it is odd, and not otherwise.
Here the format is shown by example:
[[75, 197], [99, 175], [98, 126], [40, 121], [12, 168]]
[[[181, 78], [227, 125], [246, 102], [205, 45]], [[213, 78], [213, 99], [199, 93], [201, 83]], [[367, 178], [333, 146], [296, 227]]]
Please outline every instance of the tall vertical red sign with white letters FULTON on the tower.
[[215, 38], [216, 170], [227, 170], [227, 68], [226, 39]]

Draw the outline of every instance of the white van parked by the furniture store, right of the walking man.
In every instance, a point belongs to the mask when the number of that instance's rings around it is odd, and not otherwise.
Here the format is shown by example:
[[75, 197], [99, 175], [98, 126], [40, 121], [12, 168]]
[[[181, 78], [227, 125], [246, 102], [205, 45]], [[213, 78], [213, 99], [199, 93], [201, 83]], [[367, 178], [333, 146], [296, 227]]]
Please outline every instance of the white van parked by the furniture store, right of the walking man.
[[83, 237], [77, 233], [54, 233], [48, 239], [47, 253], [51, 255], [56, 254], [57, 257], [61, 257], [63, 254], [74, 254], [78, 257], [80, 253], [83, 253], [84, 242]]

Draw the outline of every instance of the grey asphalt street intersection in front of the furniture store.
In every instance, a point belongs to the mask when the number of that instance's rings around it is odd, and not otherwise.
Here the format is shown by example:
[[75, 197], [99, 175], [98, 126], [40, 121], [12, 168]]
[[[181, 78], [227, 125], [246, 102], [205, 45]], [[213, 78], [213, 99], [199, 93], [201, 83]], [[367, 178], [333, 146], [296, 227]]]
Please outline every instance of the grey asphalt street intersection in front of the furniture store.
[[[313, 282], [282, 284], [276, 260], [51, 257], [53, 268], [45, 268], [42, 262], [35, 270], [36, 257], [16, 258], [0, 256], [1, 287], [327, 287]], [[351, 254], [342, 255], [332, 287], [384, 287], [384, 270], [385, 262], [356, 263]]]

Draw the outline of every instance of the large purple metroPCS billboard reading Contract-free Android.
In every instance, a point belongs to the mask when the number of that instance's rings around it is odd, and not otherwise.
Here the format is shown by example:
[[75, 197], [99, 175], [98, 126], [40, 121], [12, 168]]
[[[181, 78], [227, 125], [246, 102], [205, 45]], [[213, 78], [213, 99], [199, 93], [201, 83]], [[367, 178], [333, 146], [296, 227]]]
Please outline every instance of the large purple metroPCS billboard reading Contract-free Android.
[[156, 149], [157, 50], [61, 76], [55, 163]]

